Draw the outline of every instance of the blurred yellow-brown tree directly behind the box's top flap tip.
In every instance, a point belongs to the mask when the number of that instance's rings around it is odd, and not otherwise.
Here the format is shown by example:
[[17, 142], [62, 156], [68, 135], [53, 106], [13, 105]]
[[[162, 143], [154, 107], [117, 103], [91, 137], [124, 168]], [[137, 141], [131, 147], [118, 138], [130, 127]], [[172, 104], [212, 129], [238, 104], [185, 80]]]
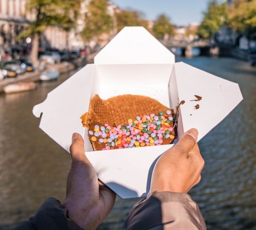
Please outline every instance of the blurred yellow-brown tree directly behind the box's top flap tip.
[[144, 14], [137, 10], [121, 10], [116, 14], [117, 31], [121, 31], [124, 26], [144, 26], [148, 29], [148, 21], [144, 19]]

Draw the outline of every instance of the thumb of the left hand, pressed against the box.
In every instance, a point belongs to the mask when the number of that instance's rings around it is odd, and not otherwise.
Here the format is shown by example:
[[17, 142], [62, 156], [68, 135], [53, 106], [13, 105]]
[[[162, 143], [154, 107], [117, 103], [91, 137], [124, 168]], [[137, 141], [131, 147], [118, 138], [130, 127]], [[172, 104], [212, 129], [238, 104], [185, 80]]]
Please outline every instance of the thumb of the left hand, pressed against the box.
[[84, 140], [79, 133], [73, 133], [72, 143], [69, 147], [72, 161], [85, 161], [87, 157], [85, 156]]

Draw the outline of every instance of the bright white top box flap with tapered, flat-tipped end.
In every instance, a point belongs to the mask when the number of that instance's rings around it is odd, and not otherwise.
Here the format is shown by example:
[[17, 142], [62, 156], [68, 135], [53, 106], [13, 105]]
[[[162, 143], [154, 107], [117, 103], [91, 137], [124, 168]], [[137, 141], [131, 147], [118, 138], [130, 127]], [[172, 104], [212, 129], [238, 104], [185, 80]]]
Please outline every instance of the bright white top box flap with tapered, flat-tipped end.
[[95, 64], [169, 64], [175, 56], [144, 27], [124, 27], [101, 52]]

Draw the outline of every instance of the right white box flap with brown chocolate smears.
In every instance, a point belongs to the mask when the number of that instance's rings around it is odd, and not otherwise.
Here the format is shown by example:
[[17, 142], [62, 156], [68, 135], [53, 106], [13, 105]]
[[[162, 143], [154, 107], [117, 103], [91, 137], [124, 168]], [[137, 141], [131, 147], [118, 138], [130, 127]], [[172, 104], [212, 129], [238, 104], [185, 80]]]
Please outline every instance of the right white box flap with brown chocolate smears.
[[[199, 141], [243, 99], [239, 85], [234, 82], [182, 62], [175, 63], [173, 71], [175, 74], [171, 77], [176, 78], [173, 82], [177, 84], [178, 101], [185, 100], [180, 105], [179, 136], [181, 132], [196, 128]], [[202, 100], [195, 101], [195, 95], [201, 96]], [[198, 109], [196, 105], [199, 105]]]

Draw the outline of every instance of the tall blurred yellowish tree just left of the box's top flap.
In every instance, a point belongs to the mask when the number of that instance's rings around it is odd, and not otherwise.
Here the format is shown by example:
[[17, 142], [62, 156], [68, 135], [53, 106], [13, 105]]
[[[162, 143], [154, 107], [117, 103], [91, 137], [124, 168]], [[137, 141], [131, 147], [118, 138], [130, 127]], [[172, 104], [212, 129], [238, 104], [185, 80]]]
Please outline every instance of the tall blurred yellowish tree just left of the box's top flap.
[[97, 40], [102, 33], [108, 33], [112, 28], [113, 20], [107, 10], [107, 0], [91, 0], [85, 13], [85, 28], [81, 31], [81, 37], [86, 42]]

